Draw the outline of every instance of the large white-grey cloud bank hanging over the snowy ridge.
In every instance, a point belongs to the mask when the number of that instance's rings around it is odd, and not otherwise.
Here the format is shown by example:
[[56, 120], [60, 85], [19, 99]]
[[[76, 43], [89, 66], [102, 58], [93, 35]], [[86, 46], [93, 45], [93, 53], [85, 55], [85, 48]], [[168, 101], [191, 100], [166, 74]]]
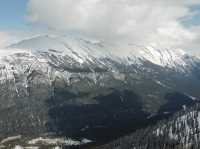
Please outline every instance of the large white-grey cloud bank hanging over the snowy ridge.
[[29, 0], [28, 19], [109, 41], [188, 47], [198, 37], [181, 20], [199, 0]]

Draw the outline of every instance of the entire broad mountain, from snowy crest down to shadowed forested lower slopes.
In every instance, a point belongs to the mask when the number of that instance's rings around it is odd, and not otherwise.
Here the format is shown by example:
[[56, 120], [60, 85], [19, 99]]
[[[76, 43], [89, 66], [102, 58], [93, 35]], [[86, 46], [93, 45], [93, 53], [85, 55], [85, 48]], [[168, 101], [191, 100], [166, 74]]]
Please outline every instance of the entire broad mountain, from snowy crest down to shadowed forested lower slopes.
[[112, 138], [118, 127], [197, 102], [199, 66], [182, 50], [71, 35], [23, 40], [0, 49], [0, 138]]

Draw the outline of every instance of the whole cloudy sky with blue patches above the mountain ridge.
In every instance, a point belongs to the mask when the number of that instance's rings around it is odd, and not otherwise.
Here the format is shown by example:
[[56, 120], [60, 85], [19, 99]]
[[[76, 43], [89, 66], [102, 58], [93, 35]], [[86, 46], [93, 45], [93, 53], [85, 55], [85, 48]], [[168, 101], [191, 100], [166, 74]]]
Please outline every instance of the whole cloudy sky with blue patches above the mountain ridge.
[[200, 52], [200, 0], [1, 0], [0, 47], [69, 32]]

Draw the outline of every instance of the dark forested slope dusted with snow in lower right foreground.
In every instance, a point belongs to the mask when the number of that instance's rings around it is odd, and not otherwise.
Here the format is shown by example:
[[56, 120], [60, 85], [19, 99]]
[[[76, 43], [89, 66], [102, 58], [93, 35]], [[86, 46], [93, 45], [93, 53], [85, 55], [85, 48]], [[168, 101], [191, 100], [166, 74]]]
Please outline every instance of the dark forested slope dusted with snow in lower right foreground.
[[138, 130], [101, 149], [198, 149], [200, 142], [199, 104], [176, 113], [173, 117]]

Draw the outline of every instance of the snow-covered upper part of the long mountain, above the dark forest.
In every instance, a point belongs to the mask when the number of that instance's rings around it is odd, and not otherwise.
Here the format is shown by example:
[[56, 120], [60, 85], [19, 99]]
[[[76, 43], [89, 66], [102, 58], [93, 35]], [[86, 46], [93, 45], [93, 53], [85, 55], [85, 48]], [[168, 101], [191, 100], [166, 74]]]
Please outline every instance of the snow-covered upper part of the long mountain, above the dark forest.
[[[184, 73], [196, 62], [193, 57], [189, 61], [188, 57], [182, 50], [119, 46], [73, 36], [39, 36], [0, 50], [0, 80], [15, 80], [16, 74], [27, 77], [33, 70], [42, 71], [50, 81], [59, 75], [69, 79], [74, 71], [95, 72], [98, 69], [118, 74], [122, 70], [116, 68], [116, 64], [135, 65], [142, 70], [145, 62]], [[26, 78], [21, 81], [27, 87]]]

